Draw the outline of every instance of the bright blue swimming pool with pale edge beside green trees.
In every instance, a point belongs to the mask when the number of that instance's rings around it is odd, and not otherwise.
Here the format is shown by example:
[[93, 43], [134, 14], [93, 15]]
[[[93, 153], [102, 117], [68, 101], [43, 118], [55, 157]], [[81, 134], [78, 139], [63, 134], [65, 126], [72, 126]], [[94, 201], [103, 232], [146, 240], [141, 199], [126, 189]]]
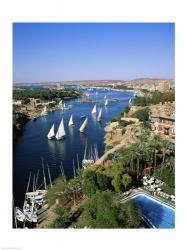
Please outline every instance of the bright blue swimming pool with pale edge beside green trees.
[[137, 194], [133, 199], [142, 216], [153, 228], [175, 228], [175, 210], [145, 194]]

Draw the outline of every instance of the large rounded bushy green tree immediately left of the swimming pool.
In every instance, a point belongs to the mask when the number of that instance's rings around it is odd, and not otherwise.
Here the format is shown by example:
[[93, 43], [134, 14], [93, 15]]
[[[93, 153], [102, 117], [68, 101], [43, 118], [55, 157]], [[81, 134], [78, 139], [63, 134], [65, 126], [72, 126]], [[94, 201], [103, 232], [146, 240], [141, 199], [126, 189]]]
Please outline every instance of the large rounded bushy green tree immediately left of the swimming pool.
[[138, 228], [141, 216], [133, 202], [120, 203], [109, 190], [97, 192], [86, 203], [83, 217], [91, 228]]

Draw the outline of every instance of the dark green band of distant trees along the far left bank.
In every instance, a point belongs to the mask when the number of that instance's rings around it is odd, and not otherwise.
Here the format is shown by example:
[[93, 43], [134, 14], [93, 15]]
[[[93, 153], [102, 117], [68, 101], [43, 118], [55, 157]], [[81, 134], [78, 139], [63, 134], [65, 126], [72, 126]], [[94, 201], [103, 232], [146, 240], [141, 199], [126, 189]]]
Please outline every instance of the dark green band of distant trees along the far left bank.
[[14, 90], [13, 99], [29, 102], [28, 98], [47, 100], [59, 100], [67, 98], [77, 98], [81, 92], [75, 90]]

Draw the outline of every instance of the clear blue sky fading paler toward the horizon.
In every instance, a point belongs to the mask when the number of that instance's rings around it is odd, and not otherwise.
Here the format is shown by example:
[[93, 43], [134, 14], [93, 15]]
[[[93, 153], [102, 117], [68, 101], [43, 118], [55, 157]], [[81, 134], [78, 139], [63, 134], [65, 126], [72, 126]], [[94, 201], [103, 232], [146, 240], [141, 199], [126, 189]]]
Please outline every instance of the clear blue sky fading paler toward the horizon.
[[172, 23], [15, 23], [13, 81], [174, 78]]

